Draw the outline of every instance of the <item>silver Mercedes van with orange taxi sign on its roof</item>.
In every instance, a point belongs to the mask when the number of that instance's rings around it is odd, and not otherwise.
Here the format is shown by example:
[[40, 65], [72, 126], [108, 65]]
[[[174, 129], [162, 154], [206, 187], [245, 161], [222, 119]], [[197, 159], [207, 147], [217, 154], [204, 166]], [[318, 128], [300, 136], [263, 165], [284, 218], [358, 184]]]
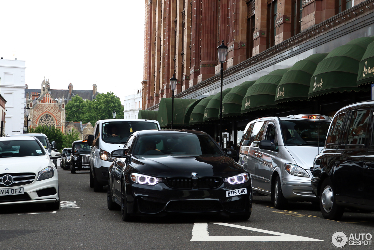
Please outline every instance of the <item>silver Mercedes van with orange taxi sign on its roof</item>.
[[288, 201], [318, 203], [313, 160], [325, 145], [330, 117], [301, 114], [258, 118], [247, 124], [239, 163], [251, 174], [253, 195], [269, 195], [277, 209]]

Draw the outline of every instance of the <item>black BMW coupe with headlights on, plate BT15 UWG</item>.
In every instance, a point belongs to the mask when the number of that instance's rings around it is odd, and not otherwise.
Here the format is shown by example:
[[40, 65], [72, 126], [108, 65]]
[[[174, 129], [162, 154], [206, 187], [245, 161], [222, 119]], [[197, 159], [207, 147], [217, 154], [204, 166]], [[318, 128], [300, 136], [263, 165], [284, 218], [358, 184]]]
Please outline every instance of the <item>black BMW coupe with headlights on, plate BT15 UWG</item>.
[[221, 214], [248, 220], [249, 173], [204, 132], [142, 130], [111, 153], [108, 209], [122, 219], [166, 214]]

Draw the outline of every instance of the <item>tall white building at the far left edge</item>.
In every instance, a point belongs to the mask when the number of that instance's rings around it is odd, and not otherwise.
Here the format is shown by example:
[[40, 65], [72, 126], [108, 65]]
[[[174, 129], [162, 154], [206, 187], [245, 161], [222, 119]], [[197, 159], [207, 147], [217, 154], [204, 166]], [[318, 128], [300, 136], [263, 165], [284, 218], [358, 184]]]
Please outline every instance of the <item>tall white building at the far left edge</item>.
[[25, 61], [0, 59], [0, 93], [5, 104], [5, 135], [23, 134]]

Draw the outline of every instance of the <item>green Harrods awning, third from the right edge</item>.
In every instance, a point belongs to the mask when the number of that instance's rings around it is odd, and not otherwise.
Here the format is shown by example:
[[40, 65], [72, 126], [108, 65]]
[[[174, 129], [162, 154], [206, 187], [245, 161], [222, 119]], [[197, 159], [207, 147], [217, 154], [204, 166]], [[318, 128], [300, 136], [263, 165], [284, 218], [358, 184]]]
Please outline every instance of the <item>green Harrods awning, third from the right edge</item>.
[[282, 77], [275, 93], [275, 104], [297, 100], [307, 100], [310, 78], [318, 63], [328, 55], [313, 54], [297, 61]]

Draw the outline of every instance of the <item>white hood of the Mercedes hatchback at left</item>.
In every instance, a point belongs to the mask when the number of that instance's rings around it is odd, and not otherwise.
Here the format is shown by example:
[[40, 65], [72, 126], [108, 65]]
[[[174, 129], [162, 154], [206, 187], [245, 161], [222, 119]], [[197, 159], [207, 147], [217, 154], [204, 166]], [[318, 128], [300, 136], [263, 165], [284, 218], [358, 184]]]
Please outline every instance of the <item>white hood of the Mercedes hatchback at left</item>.
[[[39, 172], [52, 166], [49, 156], [26, 156], [0, 158], [0, 173]], [[6, 170], [8, 169], [8, 170]]]

